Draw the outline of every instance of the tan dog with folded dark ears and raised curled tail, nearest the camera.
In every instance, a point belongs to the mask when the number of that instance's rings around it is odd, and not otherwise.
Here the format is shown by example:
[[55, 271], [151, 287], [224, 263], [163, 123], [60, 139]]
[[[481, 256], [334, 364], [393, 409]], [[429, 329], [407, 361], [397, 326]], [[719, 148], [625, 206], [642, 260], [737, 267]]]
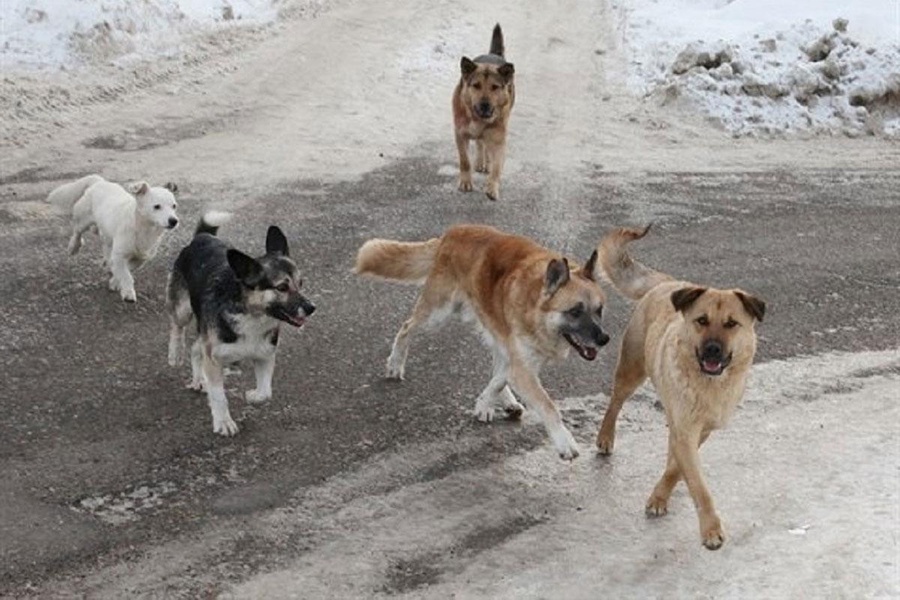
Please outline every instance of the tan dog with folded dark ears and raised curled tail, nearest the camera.
[[649, 377], [665, 407], [669, 454], [647, 501], [647, 515], [665, 515], [672, 489], [683, 479], [697, 509], [703, 545], [716, 550], [725, 534], [700, 471], [700, 446], [725, 426], [744, 395], [756, 353], [756, 323], [766, 304], [739, 289], [677, 281], [633, 260], [627, 245], [649, 229], [619, 229], [599, 247], [606, 277], [638, 304], [622, 337], [597, 448], [600, 454], [612, 452], [622, 403]]

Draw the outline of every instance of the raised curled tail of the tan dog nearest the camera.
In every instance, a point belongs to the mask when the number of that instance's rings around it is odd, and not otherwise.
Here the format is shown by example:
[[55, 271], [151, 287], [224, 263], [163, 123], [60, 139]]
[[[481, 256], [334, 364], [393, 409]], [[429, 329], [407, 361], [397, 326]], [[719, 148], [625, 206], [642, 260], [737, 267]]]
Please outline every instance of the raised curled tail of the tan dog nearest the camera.
[[613, 231], [600, 241], [598, 247], [603, 274], [622, 294], [638, 300], [654, 287], [672, 277], [643, 265], [628, 254], [629, 242], [639, 240], [650, 231], [644, 229], [621, 228]]

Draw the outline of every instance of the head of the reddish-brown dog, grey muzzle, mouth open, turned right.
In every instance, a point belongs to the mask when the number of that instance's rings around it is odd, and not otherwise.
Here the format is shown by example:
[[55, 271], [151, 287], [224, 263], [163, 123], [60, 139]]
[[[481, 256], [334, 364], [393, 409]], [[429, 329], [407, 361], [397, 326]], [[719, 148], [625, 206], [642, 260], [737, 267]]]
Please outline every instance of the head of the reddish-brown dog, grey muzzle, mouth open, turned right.
[[581, 268], [554, 258], [547, 264], [542, 291], [541, 309], [549, 329], [585, 360], [597, 358], [597, 350], [609, 342], [600, 325], [606, 297], [595, 280], [596, 263], [596, 251]]

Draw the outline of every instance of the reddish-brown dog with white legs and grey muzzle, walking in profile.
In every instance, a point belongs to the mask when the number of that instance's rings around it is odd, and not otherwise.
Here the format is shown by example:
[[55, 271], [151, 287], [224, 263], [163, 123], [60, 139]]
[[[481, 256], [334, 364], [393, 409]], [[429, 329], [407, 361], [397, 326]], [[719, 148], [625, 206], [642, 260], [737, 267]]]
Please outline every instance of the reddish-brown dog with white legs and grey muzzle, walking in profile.
[[601, 328], [605, 296], [594, 279], [597, 253], [584, 267], [535, 242], [491, 227], [459, 225], [425, 242], [373, 239], [359, 249], [355, 272], [423, 283], [412, 316], [394, 339], [387, 377], [403, 379], [410, 334], [453, 312], [473, 317], [493, 355], [493, 375], [474, 414], [491, 421], [499, 408], [518, 418], [537, 410], [560, 457], [578, 456], [575, 438], [541, 385], [540, 368], [575, 348], [585, 360], [609, 342]]

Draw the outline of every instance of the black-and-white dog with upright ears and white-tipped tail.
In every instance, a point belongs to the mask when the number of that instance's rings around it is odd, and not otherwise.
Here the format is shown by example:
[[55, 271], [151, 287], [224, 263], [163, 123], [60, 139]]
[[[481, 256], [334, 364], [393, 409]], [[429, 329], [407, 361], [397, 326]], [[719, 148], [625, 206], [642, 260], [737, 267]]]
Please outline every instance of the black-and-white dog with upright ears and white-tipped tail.
[[175, 260], [166, 287], [169, 364], [183, 361], [185, 328], [196, 319], [188, 387], [206, 390], [213, 432], [224, 436], [238, 432], [228, 411], [224, 367], [252, 362], [256, 388], [245, 397], [254, 403], [269, 400], [279, 325], [303, 327], [316, 310], [300, 292], [303, 281], [281, 229], [269, 227], [266, 253], [254, 259], [216, 237], [230, 218], [217, 211], [201, 218], [191, 243]]

